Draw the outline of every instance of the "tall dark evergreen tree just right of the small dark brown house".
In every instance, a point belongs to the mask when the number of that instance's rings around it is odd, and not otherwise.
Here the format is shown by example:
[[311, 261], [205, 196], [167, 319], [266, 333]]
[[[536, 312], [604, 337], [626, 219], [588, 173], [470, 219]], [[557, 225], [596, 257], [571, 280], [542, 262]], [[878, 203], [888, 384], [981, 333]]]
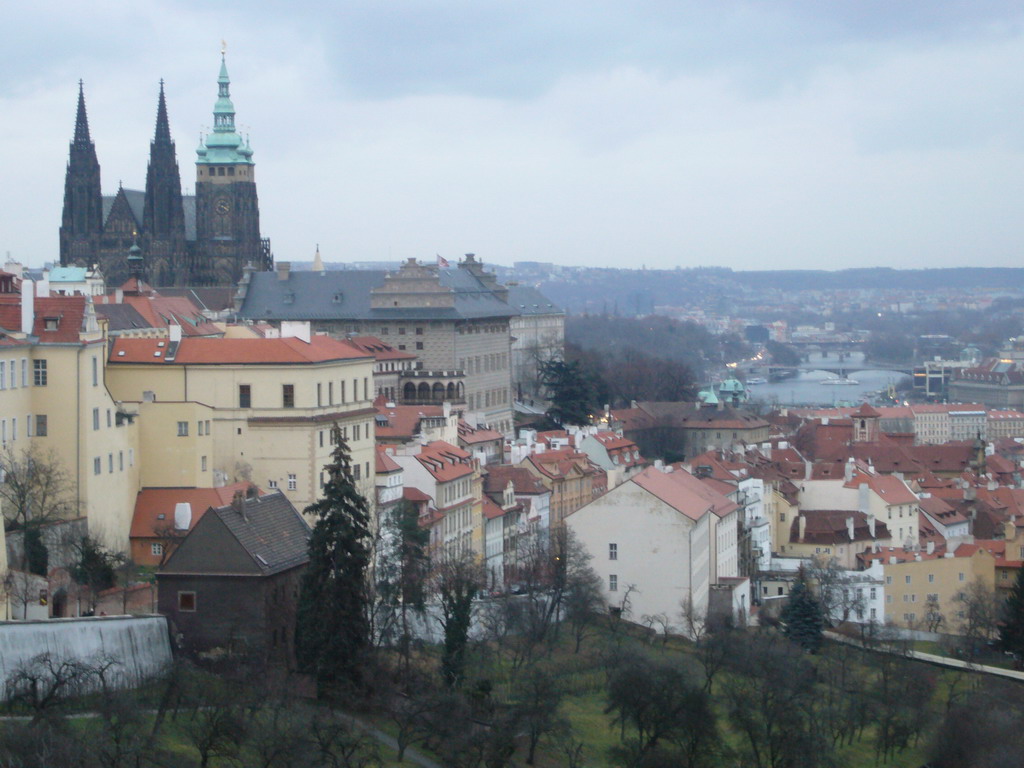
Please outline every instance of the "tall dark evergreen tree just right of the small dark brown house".
[[295, 628], [299, 666], [316, 677], [322, 692], [360, 688], [370, 647], [370, 513], [355, 487], [348, 444], [337, 424], [331, 440], [335, 449], [326, 467], [324, 497], [305, 509], [316, 516], [316, 524]]

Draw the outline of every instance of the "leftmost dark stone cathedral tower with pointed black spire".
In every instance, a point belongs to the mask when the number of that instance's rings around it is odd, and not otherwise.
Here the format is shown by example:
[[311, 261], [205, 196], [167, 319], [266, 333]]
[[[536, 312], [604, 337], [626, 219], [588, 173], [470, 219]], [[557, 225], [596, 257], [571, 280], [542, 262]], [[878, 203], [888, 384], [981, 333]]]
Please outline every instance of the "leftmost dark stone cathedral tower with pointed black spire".
[[96, 260], [103, 231], [103, 201], [99, 190], [99, 161], [89, 136], [85, 90], [78, 82], [78, 114], [65, 174], [65, 204], [60, 218], [60, 263], [90, 266]]

